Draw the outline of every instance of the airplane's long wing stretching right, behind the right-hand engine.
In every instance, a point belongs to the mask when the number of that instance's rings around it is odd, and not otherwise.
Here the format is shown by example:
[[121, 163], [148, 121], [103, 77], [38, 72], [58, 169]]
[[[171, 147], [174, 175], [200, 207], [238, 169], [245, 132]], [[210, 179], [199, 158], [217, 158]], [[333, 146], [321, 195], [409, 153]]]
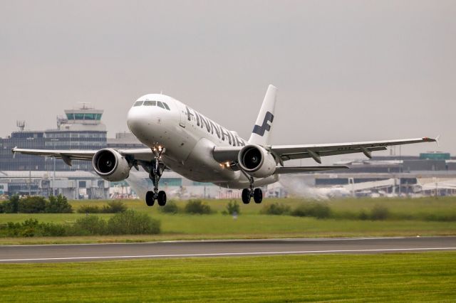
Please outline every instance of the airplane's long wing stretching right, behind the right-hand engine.
[[[416, 138], [416, 139], [398, 139], [385, 141], [371, 142], [351, 142], [351, 143], [336, 143], [336, 144], [305, 144], [305, 145], [271, 145], [264, 147], [271, 151], [279, 163], [291, 159], [312, 158], [321, 164], [321, 156], [333, 156], [336, 154], [353, 154], [363, 153], [368, 158], [371, 158], [372, 151], [385, 150], [386, 147], [393, 145], [414, 144], [421, 142], [436, 142], [432, 138]], [[226, 161], [237, 161], [237, 154], [242, 147], [214, 147], [212, 152], [214, 159], [220, 163]]]

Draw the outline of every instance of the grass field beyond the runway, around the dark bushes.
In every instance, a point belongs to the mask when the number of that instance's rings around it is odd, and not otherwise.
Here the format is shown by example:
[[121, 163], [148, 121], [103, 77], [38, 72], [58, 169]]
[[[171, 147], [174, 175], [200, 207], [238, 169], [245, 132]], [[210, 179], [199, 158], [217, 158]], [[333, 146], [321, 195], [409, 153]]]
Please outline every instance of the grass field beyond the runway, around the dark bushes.
[[[143, 201], [125, 201], [128, 208], [148, 213], [162, 223], [160, 235], [125, 235], [125, 236], [86, 236], [62, 238], [0, 238], [0, 244], [31, 243], [103, 243], [153, 240], [189, 240], [189, 239], [227, 239], [227, 238], [297, 238], [297, 237], [352, 237], [352, 236], [399, 236], [399, 235], [456, 235], [456, 221], [410, 220], [425, 216], [456, 214], [456, 198], [385, 198], [385, 199], [343, 199], [325, 201], [336, 218], [318, 220], [293, 216], [261, 215], [259, 211], [269, 203], [283, 203], [291, 208], [303, 203], [302, 199], [265, 199], [261, 205], [241, 203], [241, 215], [234, 220], [224, 216], [228, 200], [206, 201], [214, 211], [212, 215], [170, 215], [160, 213], [159, 208], [149, 208]], [[81, 205], [105, 205], [106, 201], [71, 201], [73, 208]], [[186, 201], [177, 201], [183, 208]], [[369, 210], [375, 205], [388, 207], [390, 220], [357, 220], [337, 218], [344, 212], [358, 213]], [[73, 223], [77, 218], [86, 216], [81, 213], [63, 214], [0, 214], [0, 223], [23, 222], [27, 218], [36, 218], [43, 222]], [[109, 218], [111, 214], [98, 214]]]

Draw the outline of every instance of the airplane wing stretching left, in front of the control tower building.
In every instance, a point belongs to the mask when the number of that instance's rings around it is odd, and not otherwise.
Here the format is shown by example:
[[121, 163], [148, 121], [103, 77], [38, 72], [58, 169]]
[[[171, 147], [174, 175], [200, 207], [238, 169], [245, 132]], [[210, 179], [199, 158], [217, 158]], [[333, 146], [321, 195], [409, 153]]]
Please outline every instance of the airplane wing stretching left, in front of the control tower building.
[[[132, 156], [133, 159], [150, 161], [154, 154], [151, 149], [115, 149], [123, 156]], [[53, 156], [57, 159], [63, 159], [66, 164], [71, 166], [71, 160], [92, 161], [93, 155], [98, 150], [71, 150], [71, 149], [18, 149], [14, 147], [11, 150], [13, 154], [31, 154], [35, 156]]]

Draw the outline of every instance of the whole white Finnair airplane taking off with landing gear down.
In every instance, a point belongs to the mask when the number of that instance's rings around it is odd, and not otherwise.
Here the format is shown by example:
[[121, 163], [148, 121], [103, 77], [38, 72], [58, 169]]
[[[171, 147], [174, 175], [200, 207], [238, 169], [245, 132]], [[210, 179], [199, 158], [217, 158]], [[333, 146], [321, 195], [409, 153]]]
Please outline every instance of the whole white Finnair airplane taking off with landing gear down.
[[53, 156], [71, 166], [73, 160], [92, 161], [96, 174], [107, 181], [127, 179], [130, 169], [142, 166], [152, 180], [153, 190], [147, 191], [145, 202], [165, 206], [166, 193], [158, 184], [165, 169], [187, 179], [211, 182], [224, 188], [242, 189], [243, 203], [254, 198], [261, 203], [261, 186], [273, 184], [280, 174], [346, 169], [348, 166], [284, 166], [291, 159], [314, 159], [321, 164], [322, 156], [363, 153], [371, 158], [372, 151], [388, 146], [435, 142], [428, 137], [376, 142], [336, 144], [271, 145], [269, 134], [274, 122], [277, 88], [269, 85], [257, 121], [248, 141], [237, 132], [217, 124], [190, 106], [162, 94], [139, 97], [128, 111], [130, 131], [147, 148], [100, 150], [21, 149], [13, 154]]

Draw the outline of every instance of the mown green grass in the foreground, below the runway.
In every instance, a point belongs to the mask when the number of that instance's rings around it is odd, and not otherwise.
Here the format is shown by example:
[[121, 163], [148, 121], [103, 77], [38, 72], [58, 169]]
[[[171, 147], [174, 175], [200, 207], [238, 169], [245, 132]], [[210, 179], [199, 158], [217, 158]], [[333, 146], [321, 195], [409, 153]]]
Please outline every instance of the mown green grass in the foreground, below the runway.
[[456, 252], [4, 264], [0, 276], [1, 302], [452, 302]]

